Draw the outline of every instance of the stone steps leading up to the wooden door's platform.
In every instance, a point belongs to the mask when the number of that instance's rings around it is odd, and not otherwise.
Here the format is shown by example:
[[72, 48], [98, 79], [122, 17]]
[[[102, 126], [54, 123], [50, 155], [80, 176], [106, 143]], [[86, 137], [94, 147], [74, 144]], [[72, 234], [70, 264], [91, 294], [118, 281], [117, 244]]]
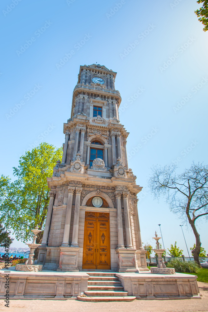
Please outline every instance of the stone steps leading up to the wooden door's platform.
[[135, 296], [128, 296], [124, 291], [121, 282], [115, 273], [110, 272], [87, 272], [90, 275], [88, 279], [87, 291], [84, 296], [77, 296], [80, 301], [133, 301]]

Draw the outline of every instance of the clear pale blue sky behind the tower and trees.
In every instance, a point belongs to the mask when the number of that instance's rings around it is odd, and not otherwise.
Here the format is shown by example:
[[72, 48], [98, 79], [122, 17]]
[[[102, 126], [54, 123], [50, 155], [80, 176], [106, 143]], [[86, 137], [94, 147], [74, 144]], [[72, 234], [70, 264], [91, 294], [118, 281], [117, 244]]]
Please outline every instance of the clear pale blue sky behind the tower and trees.
[[[196, 0], [178, 1], [175, 6], [174, 0], [13, 1], [0, 4], [1, 172], [12, 176], [12, 167], [33, 144], [46, 141], [62, 146], [79, 66], [105, 65], [117, 72], [120, 121], [130, 132], [127, 151], [142, 146], [129, 159], [137, 184], [144, 187], [139, 194], [142, 240], [153, 244], [151, 237], [161, 223], [165, 248], [177, 241], [187, 255], [182, 221], [162, 198], [153, 200], [147, 179], [151, 166], [170, 164], [178, 157], [181, 171], [192, 160], [207, 161], [208, 32], [202, 31], [194, 13], [199, 4]], [[71, 58], [57, 66], [71, 50], [75, 51]], [[175, 109], [181, 101], [184, 105]], [[47, 135], [42, 138], [44, 131]], [[145, 141], [145, 136], [152, 137]], [[208, 252], [205, 220], [198, 222], [198, 230]], [[185, 225], [184, 234], [190, 248], [194, 235]], [[25, 245], [15, 241], [13, 246]]]

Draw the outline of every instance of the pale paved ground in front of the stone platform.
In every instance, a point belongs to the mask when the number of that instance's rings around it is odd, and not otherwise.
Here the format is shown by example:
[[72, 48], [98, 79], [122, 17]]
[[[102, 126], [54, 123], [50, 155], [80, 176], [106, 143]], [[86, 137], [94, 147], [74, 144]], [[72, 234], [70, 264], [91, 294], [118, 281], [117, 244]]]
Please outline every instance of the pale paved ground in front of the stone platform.
[[202, 299], [134, 300], [132, 302], [82, 302], [77, 300], [11, 300], [8, 312], [208, 312], [208, 284], [198, 282]]

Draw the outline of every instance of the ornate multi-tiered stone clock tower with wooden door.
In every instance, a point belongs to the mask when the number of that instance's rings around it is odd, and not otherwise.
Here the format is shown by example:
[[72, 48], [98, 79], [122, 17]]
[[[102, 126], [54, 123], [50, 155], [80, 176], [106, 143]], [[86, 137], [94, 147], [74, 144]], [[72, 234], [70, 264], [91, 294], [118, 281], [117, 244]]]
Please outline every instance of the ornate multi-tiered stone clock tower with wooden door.
[[80, 66], [62, 161], [48, 178], [50, 202], [38, 263], [57, 271], [148, 270], [128, 132], [119, 121], [116, 72]]

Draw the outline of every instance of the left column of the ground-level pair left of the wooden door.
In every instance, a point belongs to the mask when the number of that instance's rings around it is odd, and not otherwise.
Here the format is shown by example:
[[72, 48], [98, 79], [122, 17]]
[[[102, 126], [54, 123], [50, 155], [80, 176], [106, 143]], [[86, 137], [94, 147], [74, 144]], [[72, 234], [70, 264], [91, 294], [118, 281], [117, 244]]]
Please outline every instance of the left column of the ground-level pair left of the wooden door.
[[61, 246], [69, 246], [69, 231], [70, 231], [70, 222], [71, 222], [71, 214], [72, 214], [72, 199], [73, 199], [74, 189], [75, 188], [68, 187], [68, 200], [67, 200], [67, 207], [66, 207], [64, 237], [63, 237], [63, 243], [61, 244]]

